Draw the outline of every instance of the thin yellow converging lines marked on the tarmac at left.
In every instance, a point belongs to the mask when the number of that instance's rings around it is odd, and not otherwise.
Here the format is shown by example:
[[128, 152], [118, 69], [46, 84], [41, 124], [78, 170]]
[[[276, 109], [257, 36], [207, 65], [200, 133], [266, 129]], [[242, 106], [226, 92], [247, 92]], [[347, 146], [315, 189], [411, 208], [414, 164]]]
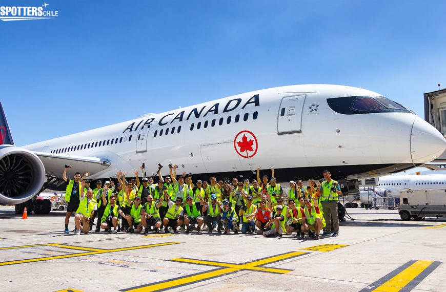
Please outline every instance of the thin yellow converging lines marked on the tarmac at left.
[[57, 259], [66, 259], [66, 258], [75, 258], [75, 257], [91, 256], [91, 255], [97, 255], [97, 254], [116, 253], [116, 252], [123, 252], [123, 251], [131, 251], [133, 249], [165, 246], [165, 245], [172, 245], [172, 244], [178, 244], [178, 243], [183, 243], [183, 242], [172, 241], [172, 242], [155, 243], [155, 244], [131, 246], [131, 247], [124, 247], [124, 248], [114, 248], [114, 249], [89, 248], [89, 247], [80, 247], [80, 246], [73, 246], [73, 245], [66, 245], [66, 244], [59, 244], [59, 243], [23, 245], [23, 246], [13, 246], [13, 247], [9, 247], [9, 248], [4, 247], [2, 249], [26, 248], [26, 247], [34, 247], [34, 246], [55, 246], [55, 247], [63, 247], [63, 248], [76, 249], [76, 250], [80, 249], [80, 250], [84, 250], [87, 252], [70, 254], [70, 255], [62, 255], [62, 256], [51, 256], [51, 257], [43, 257], [43, 258], [35, 258], [35, 259], [0, 262], [0, 266], [24, 264], [24, 263], [32, 263], [32, 262], [41, 262], [41, 261], [57, 260]]

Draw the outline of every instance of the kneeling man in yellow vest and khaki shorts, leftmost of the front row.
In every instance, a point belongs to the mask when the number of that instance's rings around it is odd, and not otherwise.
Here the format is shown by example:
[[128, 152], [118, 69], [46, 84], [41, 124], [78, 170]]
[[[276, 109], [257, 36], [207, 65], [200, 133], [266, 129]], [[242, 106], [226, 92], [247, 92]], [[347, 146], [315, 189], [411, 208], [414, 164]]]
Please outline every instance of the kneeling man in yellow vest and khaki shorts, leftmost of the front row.
[[87, 234], [90, 231], [91, 218], [94, 212], [97, 211], [97, 203], [93, 198], [93, 190], [89, 189], [87, 195], [84, 193], [85, 182], [82, 181], [80, 187], [80, 202], [74, 216], [74, 223], [76, 224], [76, 235], [80, 235], [80, 224], [82, 224], [82, 231]]

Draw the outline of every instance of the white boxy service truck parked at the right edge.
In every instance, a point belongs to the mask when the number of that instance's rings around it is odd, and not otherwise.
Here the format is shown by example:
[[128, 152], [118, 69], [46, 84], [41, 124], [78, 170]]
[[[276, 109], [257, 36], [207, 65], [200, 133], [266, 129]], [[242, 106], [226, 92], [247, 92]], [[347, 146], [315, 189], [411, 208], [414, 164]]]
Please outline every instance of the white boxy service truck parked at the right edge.
[[403, 190], [398, 213], [402, 220], [446, 217], [446, 190]]

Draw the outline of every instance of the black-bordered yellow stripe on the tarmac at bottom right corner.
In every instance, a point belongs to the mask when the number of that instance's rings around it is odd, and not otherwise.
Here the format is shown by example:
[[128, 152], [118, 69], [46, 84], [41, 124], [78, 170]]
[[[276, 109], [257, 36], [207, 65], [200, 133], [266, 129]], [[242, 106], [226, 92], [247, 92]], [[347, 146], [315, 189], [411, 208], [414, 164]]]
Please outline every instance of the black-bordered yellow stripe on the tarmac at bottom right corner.
[[359, 292], [386, 291], [397, 292], [410, 291], [424, 278], [433, 272], [442, 262], [411, 260], [386, 276], [363, 288]]

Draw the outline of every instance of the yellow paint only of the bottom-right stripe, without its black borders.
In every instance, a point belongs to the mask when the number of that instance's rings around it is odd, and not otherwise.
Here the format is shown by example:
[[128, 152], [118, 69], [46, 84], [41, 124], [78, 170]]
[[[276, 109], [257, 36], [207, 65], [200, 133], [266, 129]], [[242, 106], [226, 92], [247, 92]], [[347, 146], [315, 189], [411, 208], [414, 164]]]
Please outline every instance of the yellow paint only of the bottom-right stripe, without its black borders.
[[432, 263], [433, 261], [416, 261], [406, 269], [402, 270], [401, 273], [377, 287], [374, 291], [397, 292], [409, 284], [410, 281], [415, 279]]

